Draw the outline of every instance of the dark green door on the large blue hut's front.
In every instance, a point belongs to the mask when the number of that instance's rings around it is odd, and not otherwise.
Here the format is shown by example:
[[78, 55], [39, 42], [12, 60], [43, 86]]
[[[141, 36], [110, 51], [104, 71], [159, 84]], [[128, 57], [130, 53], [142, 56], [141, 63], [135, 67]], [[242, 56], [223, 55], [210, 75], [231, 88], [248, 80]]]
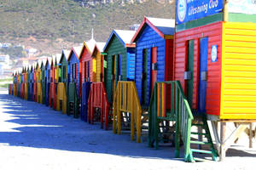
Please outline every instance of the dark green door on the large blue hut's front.
[[142, 75], [142, 105], [147, 105], [147, 91], [148, 91], [148, 48], [143, 49], [143, 75]]

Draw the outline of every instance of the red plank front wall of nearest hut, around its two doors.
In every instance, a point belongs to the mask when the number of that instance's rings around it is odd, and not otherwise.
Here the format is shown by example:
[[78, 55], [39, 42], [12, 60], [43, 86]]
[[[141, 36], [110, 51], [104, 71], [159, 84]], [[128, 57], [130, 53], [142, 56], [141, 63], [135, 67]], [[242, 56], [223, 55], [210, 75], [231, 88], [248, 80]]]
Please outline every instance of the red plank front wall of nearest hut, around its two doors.
[[[179, 80], [185, 88], [184, 71], [187, 62], [188, 41], [195, 40], [194, 48], [194, 88], [193, 109], [198, 105], [198, 79], [199, 79], [199, 54], [200, 38], [208, 37], [208, 72], [207, 72], [207, 114], [219, 115], [220, 110], [220, 85], [221, 85], [221, 53], [222, 53], [222, 22], [200, 26], [186, 31], [177, 32], [175, 35], [174, 80]], [[211, 61], [212, 45], [218, 45], [218, 60]], [[185, 92], [186, 93], [186, 92]]]

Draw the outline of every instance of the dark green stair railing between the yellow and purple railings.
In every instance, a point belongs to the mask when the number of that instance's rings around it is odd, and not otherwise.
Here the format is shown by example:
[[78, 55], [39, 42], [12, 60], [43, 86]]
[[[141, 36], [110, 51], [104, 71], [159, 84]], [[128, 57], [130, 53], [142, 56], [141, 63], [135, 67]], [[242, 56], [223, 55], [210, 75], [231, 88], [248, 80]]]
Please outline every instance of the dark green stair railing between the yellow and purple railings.
[[71, 111], [73, 117], [79, 117], [79, 99], [75, 82], [70, 82], [68, 87], [67, 115], [71, 115]]

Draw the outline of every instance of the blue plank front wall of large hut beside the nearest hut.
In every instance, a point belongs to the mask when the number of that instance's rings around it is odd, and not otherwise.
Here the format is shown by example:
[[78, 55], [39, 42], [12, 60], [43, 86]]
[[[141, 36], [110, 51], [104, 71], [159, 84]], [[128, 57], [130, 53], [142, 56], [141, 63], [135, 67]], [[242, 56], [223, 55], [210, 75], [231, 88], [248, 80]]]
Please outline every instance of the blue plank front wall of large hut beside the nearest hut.
[[165, 81], [166, 40], [160, 37], [150, 26], [145, 26], [136, 42], [136, 88], [142, 102], [142, 73], [143, 73], [143, 49], [148, 48], [148, 74], [147, 74], [147, 104], [150, 100], [151, 89], [151, 48], [157, 48], [157, 81]]

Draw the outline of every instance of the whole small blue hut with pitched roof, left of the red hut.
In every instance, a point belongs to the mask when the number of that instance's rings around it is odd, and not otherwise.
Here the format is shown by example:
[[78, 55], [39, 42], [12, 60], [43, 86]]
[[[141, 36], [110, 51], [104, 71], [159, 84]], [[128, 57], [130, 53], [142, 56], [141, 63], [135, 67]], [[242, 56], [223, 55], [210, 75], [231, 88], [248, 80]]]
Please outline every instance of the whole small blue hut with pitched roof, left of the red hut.
[[73, 47], [68, 56], [69, 80], [76, 83], [77, 94], [79, 95], [79, 56], [83, 46]]

